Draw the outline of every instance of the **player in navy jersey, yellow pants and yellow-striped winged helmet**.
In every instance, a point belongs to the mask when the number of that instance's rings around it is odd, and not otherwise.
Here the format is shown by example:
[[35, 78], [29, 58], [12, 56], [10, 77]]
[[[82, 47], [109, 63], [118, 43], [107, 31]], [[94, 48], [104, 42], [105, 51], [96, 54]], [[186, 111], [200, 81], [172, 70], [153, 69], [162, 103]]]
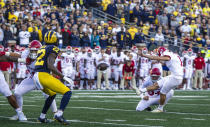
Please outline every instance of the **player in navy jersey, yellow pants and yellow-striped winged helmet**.
[[55, 60], [59, 54], [57, 33], [48, 31], [44, 35], [44, 42], [46, 45], [42, 46], [37, 52], [35, 62], [35, 74], [33, 76], [37, 88], [48, 94], [49, 97], [45, 101], [43, 107], [43, 115], [46, 115], [50, 105], [52, 104], [56, 93], [63, 95], [60, 103], [60, 108], [54, 116], [54, 119], [62, 124], [69, 124], [63, 117], [63, 112], [69, 103], [72, 92], [60, 80], [51, 75], [51, 72], [58, 75], [66, 82], [73, 84], [72, 79], [64, 76], [55, 66]]

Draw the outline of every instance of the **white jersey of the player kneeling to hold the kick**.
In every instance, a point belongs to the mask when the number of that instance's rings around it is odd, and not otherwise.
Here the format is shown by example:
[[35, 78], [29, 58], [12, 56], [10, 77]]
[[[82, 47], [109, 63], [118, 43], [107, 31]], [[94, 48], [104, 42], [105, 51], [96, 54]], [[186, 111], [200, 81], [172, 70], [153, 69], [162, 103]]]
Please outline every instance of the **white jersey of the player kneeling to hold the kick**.
[[[151, 86], [153, 84], [154, 83], [152, 82], [151, 77], [148, 76], [148, 77], [145, 78], [145, 81], [143, 82], [143, 85], [141, 86], [141, 88], [142, 89], [147, 88], [148, 86]], [[149, 91], [149, 92], [146, 93], [146, 95], [148, 95], [149, 97], [153, 97], [153, 98], [158, 97], [160, 95], [160, 89], [161, 88], [158, 88], [157, 90], [154, 90], [154, 91]]]

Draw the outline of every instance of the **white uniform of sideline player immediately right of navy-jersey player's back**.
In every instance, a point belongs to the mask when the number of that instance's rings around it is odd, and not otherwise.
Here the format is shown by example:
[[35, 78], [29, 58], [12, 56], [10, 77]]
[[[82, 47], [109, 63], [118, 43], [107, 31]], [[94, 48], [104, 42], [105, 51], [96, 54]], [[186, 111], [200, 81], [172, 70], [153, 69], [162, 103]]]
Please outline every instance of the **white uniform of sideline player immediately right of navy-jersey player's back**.
[[61, 55], [61, 70], [64, 76], [70, 77], [74, 80], [75, 69], [73, 67], [74, 54], [63, 53]]

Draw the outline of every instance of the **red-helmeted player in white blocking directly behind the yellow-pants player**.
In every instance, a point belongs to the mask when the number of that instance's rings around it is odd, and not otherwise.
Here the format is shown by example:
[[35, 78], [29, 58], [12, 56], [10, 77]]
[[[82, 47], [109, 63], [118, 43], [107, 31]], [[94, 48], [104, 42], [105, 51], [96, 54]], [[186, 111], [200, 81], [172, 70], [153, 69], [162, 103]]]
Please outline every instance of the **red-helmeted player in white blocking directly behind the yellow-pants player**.
[[[22, 111], [22, 107], [23, 107], [23, 95], [36, 89], [36, 86], [34, 84], [33, 81], [33, 75], [34, 75], [34, 69], [35, 69], [35, 59], [37, 56], [37, 51], [39, 48], [41, 48], [41, 43], [37, 40], [34, 40], [32, 42], [29, 43], [29, 50], [25, 50], [24, 52], [22, 52], [21, 54], [21, 58], [25, 59], [25, 61], [27, 61], [26, 66], [27, 69], [29, 71], [29, 75], [26, 79], [24, 79], [15, 89], [14, 95], [16, 97], [17, 103]], [[43, 94], [45, 98], [48, 98], [48, 95]], [[51, 109], [54, 113], [57, 112], [57, 107], [56, 107], [56, 102], [55, 100], [53, 101], [52, 105], [51, 105]], [[10, 120], [17, 120], [18, 116], [15, 115], [13, 117], [10, 118]], [[39, 118], [38, 119], [40, 122], [47, 122], [46, 118]]]

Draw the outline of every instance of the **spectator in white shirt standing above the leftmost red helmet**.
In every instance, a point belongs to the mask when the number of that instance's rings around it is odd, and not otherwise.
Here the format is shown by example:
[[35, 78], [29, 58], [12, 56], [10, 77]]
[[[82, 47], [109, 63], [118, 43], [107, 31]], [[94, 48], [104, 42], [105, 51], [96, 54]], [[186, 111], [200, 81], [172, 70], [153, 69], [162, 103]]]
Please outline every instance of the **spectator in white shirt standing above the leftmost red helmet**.
[[22, 25], [21, 27], [22, 31], [19, 33], [19, 39], [20, 39], [20, 46], [27, 47], [29, 44], [29, 38], [31, 37], [31, 34], [26, 31], [26, 25]]

